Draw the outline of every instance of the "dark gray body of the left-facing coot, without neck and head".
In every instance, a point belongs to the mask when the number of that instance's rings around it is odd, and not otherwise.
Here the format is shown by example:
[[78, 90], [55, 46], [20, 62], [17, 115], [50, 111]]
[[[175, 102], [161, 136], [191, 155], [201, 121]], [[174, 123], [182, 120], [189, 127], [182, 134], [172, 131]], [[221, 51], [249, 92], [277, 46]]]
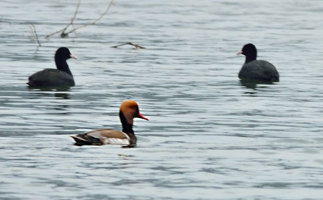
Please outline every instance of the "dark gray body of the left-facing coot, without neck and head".
[[276, 67], [268, 61], [253, 60], [242, 66], [239, 78], [276, 82], [279, 81], [279, 73]]

